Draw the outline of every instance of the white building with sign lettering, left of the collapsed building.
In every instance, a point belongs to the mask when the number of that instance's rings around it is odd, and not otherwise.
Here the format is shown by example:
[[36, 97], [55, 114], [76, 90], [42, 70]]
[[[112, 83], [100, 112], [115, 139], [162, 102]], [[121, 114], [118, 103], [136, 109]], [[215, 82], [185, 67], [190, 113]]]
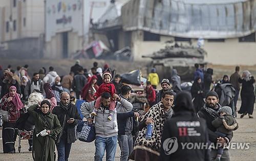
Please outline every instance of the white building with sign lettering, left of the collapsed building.
[[[125, 2], [116, 1], [119, 11]], [[110, 0], [47, 0], [45, 58], [68, 58], [85, 49], [93, 41], [90, 28], [110, 3]]]

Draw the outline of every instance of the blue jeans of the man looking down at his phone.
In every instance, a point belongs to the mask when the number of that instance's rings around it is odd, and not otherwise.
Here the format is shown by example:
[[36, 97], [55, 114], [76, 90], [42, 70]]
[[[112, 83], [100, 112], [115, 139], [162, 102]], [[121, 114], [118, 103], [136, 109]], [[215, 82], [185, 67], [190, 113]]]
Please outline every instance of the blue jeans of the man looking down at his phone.
[[59, 143], [56, 145], [58, 151], [58, 161], [67, 161], [71, 150], [71, 145], [67, 142], [67, 134], [63, 133]]

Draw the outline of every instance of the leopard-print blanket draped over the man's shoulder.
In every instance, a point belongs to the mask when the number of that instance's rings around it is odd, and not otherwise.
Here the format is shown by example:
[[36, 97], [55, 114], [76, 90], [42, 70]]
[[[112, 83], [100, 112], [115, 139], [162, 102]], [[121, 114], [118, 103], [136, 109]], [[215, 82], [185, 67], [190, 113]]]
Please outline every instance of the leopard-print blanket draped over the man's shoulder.
[[[172, 110], [172, 109], [170, 109]], [[156, 155], [160, 155], [161, 147], [161, 135], [163, 132], [164, 122], [166, 120], [163, 103], [159, 102], [152, 106], [143, 116], [141, 116], [141, 122], [146, 118], [153, 118], [155, 123], [153, 124], [152, 138], [146, 140], [146, 127], [139, 131], [138, 137], [135, 141], [134, 150], [143, 149]]]

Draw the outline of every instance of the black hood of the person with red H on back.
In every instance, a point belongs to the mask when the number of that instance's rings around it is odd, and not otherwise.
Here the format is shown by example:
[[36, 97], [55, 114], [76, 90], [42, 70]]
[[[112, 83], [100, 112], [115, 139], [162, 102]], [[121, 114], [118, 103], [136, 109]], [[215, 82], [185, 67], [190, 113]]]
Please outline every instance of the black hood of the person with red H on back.
[[191, 95], [186, 91], [181, 91], [176, 95], [174, 104], [173, 110], [175, 113], [178, 111], [191, 111], [195, 113]]

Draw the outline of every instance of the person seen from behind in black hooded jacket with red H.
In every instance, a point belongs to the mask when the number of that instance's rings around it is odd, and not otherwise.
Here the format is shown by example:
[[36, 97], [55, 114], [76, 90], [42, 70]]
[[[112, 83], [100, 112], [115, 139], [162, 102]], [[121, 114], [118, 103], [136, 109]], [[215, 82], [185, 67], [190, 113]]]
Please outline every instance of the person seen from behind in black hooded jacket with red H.
[[178, 93], [173, 110], [174, 116], [164, 124], [160, 160], [210, 160], [207, 148], [181, 148], [182, 143], [207, 145], [208, 142], [206, 122], [197, 117], [190, 94]]

